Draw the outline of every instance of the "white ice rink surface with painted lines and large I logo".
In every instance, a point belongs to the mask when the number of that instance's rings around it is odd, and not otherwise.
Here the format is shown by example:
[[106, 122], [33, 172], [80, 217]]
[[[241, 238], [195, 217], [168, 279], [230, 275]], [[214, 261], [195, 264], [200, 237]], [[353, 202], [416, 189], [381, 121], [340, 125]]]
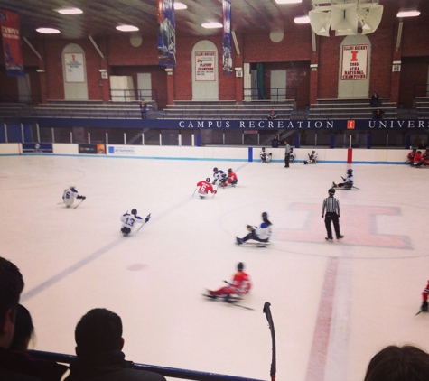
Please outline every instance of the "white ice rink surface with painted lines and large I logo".
[[[192, 197], [212, 168], [235, 189]], [[338, 190], [342, 241], [325, 242], [322, 200]], [[74, 329], [92, 308], [117, 312], [126, 358], [137, 363], [268, 379], [271, 303], [277, 379], [360, 381], [390, 344], [429, 350], [429, 314], [415, 313], [429, 279], [428, 175], [406, 165], [261, 164], [113, 157], [0, 158], [1, 256], [21, 269], [33, 348], [74, 354]], [[62, 191], [85, 200], [66, 209]], [[152, 219], [122, 237], [120, 216]], [[266, 211], [267, 248], [236, 246]], [[249, 311], [202, 297], [244, 262]]]

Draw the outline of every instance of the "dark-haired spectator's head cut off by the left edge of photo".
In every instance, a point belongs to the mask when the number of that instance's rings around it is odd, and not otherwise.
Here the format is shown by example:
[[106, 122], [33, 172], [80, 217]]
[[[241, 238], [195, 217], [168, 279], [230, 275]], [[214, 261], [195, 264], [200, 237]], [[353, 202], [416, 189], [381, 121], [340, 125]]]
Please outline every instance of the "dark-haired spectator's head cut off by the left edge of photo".
[[0, 348], [9, 348], [14, 337], [14, 320], [23, 275], [12, 262], [0, 257]]

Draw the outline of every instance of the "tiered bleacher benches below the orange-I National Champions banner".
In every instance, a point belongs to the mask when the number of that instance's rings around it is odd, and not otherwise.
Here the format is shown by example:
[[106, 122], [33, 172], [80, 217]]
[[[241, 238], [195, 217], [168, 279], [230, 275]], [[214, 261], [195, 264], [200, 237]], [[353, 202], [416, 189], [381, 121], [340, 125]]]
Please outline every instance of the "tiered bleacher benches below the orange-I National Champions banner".
[[318, 99], [308, 112], [309, 119], [371, 119], [375, 108], [383, 110], [383, 118], [397, 118], [397, 107], [390, 98], [380, 98], [378, 107], [369, 99]]

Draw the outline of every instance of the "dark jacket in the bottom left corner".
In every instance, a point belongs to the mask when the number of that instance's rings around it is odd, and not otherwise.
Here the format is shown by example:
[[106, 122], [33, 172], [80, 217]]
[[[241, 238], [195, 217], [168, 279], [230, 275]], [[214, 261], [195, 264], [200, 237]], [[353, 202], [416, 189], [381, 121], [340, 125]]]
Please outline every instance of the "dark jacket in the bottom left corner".
[[60, 381], [67, 367], [33, 358], [27, 352], [0, 348], [0, 380]]

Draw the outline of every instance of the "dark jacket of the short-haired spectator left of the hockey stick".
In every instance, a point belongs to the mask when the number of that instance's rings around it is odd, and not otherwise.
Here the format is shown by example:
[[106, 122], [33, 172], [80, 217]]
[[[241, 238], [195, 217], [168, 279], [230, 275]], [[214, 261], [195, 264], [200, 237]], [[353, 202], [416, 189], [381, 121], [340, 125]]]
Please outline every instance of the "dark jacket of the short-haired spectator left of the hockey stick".
[[103, 353], [97, 357], [76, 358], [70, 364], [70, 376], [64, 381], [165, 381], [154, 372], [133, 369], [119, 350]]

